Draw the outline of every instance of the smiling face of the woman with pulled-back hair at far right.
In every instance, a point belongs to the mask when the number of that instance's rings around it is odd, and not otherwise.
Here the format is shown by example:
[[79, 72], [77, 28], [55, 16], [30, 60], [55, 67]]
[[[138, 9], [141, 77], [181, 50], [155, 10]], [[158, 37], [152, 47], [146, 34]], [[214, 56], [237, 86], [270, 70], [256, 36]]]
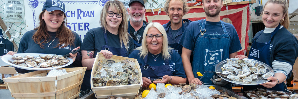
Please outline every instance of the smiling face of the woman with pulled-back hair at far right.
[[281, 4], [268, 3], [264, 8], [262, 21], [266, 28], [276, 28], [284, 17]]

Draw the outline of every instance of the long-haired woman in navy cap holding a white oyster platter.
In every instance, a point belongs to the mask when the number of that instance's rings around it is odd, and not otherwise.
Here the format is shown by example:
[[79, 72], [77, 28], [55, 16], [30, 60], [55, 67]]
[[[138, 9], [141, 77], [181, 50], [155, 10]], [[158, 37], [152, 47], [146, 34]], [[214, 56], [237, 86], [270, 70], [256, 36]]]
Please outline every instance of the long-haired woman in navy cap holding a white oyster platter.
[[[39, 14], [39, 26], [26, 32], [21, 38], [18, 53], [43, 53], [43, 54], [70, 54], [74, 62], [66, 66], [82, 67], [82, 56], [79, 53], [71, 54], [82, 45], [80, 36], [68, 29], [65, 25], [65, 5], [59, 0], [46, 0], [42, 12]], [[8, 54], [13, 55], [10, 51]], [[28, 73], [32, 70], [15, 68], [18, 73]]]

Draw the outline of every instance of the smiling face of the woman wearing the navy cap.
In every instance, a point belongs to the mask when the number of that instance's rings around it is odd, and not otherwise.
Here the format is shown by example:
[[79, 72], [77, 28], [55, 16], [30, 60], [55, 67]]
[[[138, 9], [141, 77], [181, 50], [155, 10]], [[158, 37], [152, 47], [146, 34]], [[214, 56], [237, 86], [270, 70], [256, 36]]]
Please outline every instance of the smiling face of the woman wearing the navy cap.
[[52, 12], [45, 10], [44, 14], [42, 15], [42, 19], [44, 19], [46, 23], [46, 29], [49, 32], [57, 32], [58, 28], [64, 21], [64, 13], [60, 10], [55, 10]]

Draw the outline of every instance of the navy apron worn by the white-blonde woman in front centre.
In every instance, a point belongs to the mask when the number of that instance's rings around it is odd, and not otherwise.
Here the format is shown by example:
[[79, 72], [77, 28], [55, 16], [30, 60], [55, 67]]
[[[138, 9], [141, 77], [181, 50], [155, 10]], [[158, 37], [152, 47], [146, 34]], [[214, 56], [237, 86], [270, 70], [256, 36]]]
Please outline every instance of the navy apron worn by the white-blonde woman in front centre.
[[170, 70], [168, 59], [164, 60], [165, 64], [162, 66], [150, 66], [147, 63], [147, 60], [148, 60], [148, 55], [146, 55], [144, 58], [145, 65], [142, 64], [142, 66], [141, 66], [141, 71], [142, 71], [143, 77], [146, 77], [151, 80], [155, 80], [155, 79], [161, 79], [162, 76], [164, 76], [164, 75], [173, 76], [172, 72]]

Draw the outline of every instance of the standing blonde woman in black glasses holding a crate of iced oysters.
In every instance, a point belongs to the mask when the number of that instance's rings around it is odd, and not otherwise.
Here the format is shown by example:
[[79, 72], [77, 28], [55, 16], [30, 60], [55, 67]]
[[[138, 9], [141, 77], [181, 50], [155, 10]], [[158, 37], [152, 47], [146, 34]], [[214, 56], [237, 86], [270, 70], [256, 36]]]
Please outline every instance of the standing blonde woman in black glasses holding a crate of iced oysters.
[[126, 8], [121, 1], [107, 1], [100, 15], [102, 27], [90, 29], [83, 40], [82, 65], [87, 67], [81, 90], [91, 89], [91, 69], [98, 52], [106, 59], [112, 55], [128, 57], [134, 42], [127, 33]]

